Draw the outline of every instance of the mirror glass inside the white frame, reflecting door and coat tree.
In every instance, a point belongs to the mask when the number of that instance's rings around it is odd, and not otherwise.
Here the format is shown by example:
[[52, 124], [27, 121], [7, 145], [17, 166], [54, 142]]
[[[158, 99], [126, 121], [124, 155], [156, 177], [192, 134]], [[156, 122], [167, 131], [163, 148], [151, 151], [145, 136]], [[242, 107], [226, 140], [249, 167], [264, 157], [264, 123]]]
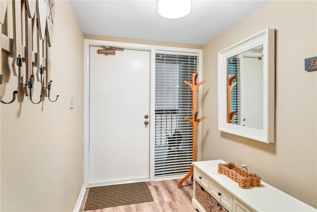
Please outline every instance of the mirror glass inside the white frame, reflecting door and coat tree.
[[263, 129], [263, 45], [227, 58], [227, 123]]

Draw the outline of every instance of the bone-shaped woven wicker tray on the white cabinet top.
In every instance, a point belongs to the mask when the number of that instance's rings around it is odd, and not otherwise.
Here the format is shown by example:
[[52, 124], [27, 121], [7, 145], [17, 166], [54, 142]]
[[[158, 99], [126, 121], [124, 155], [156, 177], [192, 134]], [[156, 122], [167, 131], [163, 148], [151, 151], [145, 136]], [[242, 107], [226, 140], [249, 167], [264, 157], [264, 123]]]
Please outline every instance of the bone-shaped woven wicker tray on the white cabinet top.
[[219, 163], [218, 173], [237, 182], [240, 188], [261, 187], [261, 176], [240, 168], [234, 163]]

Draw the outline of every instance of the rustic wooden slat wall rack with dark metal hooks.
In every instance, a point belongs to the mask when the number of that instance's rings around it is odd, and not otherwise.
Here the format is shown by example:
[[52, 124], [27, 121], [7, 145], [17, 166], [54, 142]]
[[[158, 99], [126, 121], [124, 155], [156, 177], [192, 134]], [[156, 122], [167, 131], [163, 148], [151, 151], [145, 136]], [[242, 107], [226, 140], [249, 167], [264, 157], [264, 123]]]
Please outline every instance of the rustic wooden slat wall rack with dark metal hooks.
[[[0, 0], [0, 24], [4, 21], [6, 9], [7, 0]], [[51, 102], [57, 101], [58, 98], [57, 95], [55, 100], [51, 99], [53, 81], [50, 80], [50, 49], [53, 43], [54, 11], [54, 0], [12, 0], [13, 39], [8, 38], [2, 33], [0, 36], [1, 50], [13, 55], [11, 65], [13, 75], [18, 76], [18, 81], [24, 86], [25, 96], [29, 96], [30, 101], [34, 104], [39, 104], [43, 101], [45, 98], [44, 96], [47, 96]], [[22, 17], [22, 14], [25, 14], [24, 18]], [[25, 20], [25, 24], [22, 24], [23, 20]], [[34, 40], [32, 25], [37, 27], [36, 52], [32, 50]], [[24, 30], [22, 30], [23, 26], [25, 26]], [[24, 37], [25, 47], [22, 44], [22, 39]], [[23, 67], [23, 60], [25, 61], [25, 68]], [[0, 66], [1, 64], [2, 61], [0, 57]], [[32, 97], [34, 83], [36, 81], [34, 79], [33, 66], [37, 67], [35, 76], [37, 81], [41, 83], [42, 89], [40, 100], [38, 101], [34, 101]], [[2, 78], [2, 68], [0, 68], [0, 85], [3, 84]], [[9, 102], [4, 102], [0, 97], [0, 102], [5, 104], [12, 103], [15, 100], [15, 95], [17, 93], [17, 91], [13, 92], [13, 99]]]

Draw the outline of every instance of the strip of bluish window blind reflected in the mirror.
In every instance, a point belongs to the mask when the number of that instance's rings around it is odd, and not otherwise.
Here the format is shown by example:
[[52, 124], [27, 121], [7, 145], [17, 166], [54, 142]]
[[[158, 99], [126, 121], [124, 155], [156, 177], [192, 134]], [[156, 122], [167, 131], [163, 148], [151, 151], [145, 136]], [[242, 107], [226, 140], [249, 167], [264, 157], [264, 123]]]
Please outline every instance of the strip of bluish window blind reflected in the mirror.
[[[231, 112], [238, 110], [233, 120], [234, 124], [240, 124], [240, 58], [237, 56], [233, 56], [231, 58], [227, 59], [227, 71], [228, 74], [231, 74], [231, 76], [237, 74], [237, 77], [233, 80], [233, 82], [237, 82], [236, 85], [233, 86], [232, 88], [232, 93], [231, 93]], [[227, 100], [228, 103], [228, 100]], [[227, 107], [228, 108], [228, 107]]]

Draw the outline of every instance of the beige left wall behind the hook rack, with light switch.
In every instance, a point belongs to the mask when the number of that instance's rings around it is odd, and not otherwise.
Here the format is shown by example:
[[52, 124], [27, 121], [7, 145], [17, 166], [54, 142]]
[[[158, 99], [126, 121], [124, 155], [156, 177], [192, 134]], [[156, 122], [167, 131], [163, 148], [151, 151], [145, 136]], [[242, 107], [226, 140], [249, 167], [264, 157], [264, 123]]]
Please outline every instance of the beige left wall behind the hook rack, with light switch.
[[[12, 37], [10, 4], [6, 26]], [[14, 103], [0, 106], [3, 212], [73, 211], [83, 185], [83, 33], [69, 1], [55, 0], [51, 54], [52, 96], [59, 95], [57, 102], [45, 98], [35, 105], [18, 95]], [[9, 70], [11, 61], [5, 54], [5, 100], [17, 88], [22, 93]], [[36, 82], [34, 101], [40, 98], [39, 85]], [[69, 109], [69, 96], [75, 97], [74, 109]]]

